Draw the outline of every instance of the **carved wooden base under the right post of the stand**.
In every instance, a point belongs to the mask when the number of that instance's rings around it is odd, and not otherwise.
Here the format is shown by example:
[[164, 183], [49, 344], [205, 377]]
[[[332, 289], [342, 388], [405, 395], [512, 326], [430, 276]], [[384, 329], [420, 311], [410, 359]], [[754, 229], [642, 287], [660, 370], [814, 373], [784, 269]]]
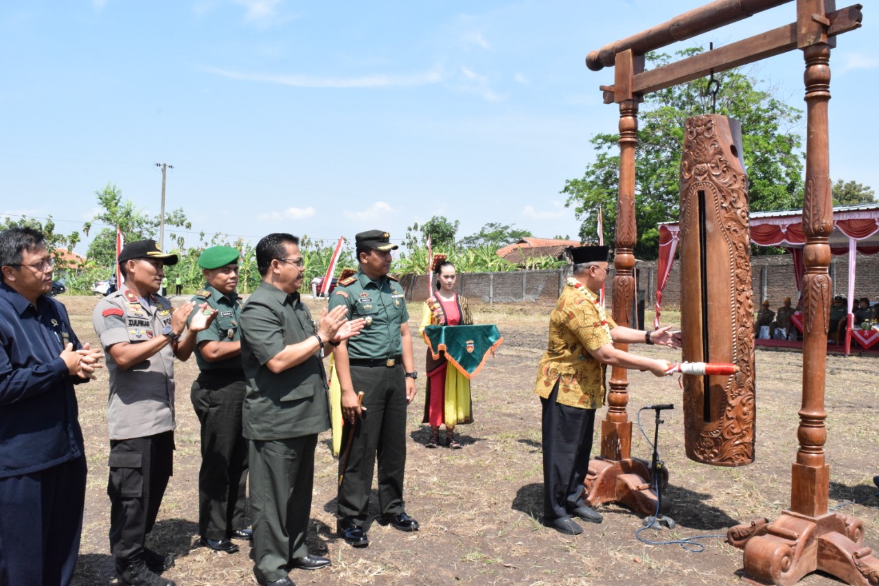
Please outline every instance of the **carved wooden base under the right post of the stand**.
[[787, 586], [817, 570], [849, 584], [879, 584], [879, 560], [863, 546], [861, 520], [840, 513], [804, 516], [790, 510], [774, 522], [730, 528], [731, 546], [745, 550], [745, 577]]

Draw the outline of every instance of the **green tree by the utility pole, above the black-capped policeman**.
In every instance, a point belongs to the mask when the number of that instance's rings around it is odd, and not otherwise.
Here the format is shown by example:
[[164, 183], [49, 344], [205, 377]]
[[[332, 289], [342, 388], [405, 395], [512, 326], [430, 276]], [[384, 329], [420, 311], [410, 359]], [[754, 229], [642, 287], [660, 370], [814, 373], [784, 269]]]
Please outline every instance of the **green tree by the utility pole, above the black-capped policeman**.
[[[159, 227], [159, 216], [149, 216], [142, 209], [134, 206], [131, 200], [122, 199], [122, 190], [115, 183], [109, 182], [104, 189], [96, 190], [98, 205], [101, 212], [93, 222], [105, 224], [98, 235], [89, 245], [88, 258], [98, 261], [99, 266], [110, 267], [116, 260], [116, 227], [122, 231], [126, 242], [141, 240], [143, 238], [156, 238]], [[165, 225], [177, 226], [186, 230], [192, 227], [192, 223], [186, 220], [183, 209], [175, 209], [165, 213]], [[88, 235], [91, 231], [91, 222], [86, 222], [83, 231]], [[182, 237], [172, 236], [172, 241], [180, 250], [184, 247]]]

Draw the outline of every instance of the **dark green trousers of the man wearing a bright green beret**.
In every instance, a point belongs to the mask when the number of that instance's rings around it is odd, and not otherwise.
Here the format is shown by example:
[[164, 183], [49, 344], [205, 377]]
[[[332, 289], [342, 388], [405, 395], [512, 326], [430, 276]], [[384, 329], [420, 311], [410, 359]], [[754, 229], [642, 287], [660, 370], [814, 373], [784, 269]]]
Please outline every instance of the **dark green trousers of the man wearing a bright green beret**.
[[225, 539], [243, 529], [247, 491], [247, 440], [241, 412], [247, 392], [243, 372], [206, 370], [190, 398], [201, 423], [199, 534]]

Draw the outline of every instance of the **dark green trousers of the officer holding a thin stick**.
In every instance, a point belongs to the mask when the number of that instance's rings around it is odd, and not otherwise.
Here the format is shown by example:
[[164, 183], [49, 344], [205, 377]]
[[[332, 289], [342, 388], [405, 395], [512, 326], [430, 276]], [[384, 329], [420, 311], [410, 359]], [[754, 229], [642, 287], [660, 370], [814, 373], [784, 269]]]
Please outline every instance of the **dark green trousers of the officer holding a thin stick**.
[[[381, 515], [405, 511], [403, 475], [406, 469], [406, 379], [403, 365], [351, 367], [354, 390], [363, 391], [363, 413], [354, 428], [351, 456], [342, 470], [345, 453], [340, 454], [339, 473], [345, 474], [338, 488], [338, 524], [362, 526], [367, 521], [369, 494], [373, 488], [375, 460], [378, 458], [379, 509]], [[352, 425], [345, 423], [342, 446], [348, 443]]]

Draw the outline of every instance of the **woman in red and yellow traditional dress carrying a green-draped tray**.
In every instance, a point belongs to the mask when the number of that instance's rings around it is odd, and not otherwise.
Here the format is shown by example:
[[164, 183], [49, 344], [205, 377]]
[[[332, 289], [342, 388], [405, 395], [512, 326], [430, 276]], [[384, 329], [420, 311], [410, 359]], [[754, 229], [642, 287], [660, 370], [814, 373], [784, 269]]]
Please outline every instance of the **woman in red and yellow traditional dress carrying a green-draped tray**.
[[[424, 335], [426, 326], [469, 326], [473, 324], [469, 304], [465, 297], [454, 292], [457, 279], [454, 264], [444, 257], [434, 261], [437, 274], [436, 293], [425, 302], [418, 333]], [[425, 363], [427, 392], [425, 393], [425, 418], [423, 423], [431, 426], [431, 438], [426, 447], [439, 445], [439, 426], [446, 426], [446, 445], [460, 450], [461, 443], [454, 438], [454, 426], [473, 422], [469, 378], [449, 365], [446, 353], [440, 352], [434, 359], [427, 349]]]

